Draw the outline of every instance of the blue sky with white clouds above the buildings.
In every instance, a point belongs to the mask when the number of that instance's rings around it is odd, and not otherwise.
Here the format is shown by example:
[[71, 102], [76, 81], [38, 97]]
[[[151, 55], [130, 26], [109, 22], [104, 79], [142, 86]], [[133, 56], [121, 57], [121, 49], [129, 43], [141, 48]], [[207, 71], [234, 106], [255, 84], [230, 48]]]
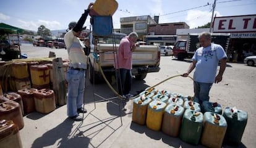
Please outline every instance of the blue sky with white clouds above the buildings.
[[[214, 0], [116, 0], [114, 28], [120, 28], [121, 17], [155, 15], [159, 23], [186, 22], [190, 28], [211, 22]], [[49, 30], [66, 30], [69, 22], [79, 20], [87, 0], [1, 0], [0, 22], [25, 30], [37, 31], [40, 25]], [[256, 0], [216, 0], [214, 15], [226, 17], [256, 14]], [[90, 28], [90, 16], [85, 25]]]

